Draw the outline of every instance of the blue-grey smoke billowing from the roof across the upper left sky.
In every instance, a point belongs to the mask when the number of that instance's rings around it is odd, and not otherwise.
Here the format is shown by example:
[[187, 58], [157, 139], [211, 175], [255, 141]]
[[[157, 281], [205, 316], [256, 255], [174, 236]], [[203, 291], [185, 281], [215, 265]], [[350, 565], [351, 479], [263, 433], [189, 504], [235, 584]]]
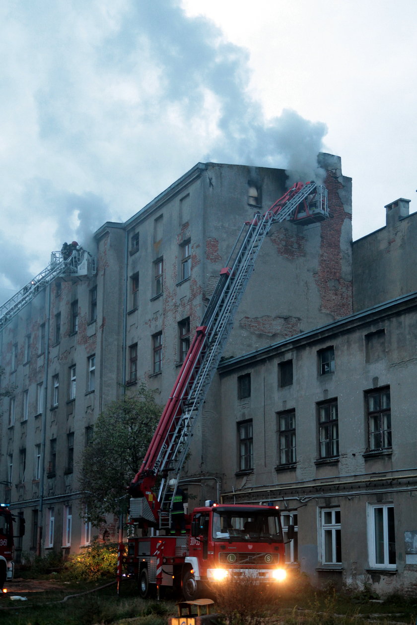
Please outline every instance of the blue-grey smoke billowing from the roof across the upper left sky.
[[0, 286], [23, 286], [64, 241], [86, 246], [198, 161], [318, 179], [326, 126], [281, 113], [284, 102], [265, 119], [247, 51], [179, 1], [14, 9], [0, 5]]

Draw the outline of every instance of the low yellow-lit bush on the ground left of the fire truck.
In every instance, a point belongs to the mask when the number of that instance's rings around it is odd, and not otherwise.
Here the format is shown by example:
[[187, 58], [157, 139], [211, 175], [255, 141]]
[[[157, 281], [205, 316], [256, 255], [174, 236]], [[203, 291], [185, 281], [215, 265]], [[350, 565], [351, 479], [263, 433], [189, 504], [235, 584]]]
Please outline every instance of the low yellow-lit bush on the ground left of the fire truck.
[[70, 556], [65, 563], [66, 576], [69, 579], [85, 580], [115, 577], [117, 563], [117, 543], [95, 541], [83, 551]]

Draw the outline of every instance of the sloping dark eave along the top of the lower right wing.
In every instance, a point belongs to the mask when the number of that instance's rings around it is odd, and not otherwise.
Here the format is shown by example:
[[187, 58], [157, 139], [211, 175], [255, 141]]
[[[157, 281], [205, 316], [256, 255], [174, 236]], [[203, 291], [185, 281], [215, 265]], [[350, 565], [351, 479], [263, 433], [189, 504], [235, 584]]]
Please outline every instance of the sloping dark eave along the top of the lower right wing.
[[283, 351], [283, 348], [295, 348], [298, 347], [299, 343], [303, 343], [306, 341], [319, 341], [328, 335], [334, 334], [335, 332], [346, 332], [350, 329], [352, 325], [356, 325], [358, 321], [362, 321], [363, 324], [366, 324], [371, 321], [371, 318], [374, 315], [378, 314], [378, 312], [386, 312], [386, 315], [394, 314], [394, 309], [408, 303], [412, 304], [412, 306], [417, 306], [417, 291], [408, 293], [407, 295], [403, 295], [401, 297], [390, 299], [386, 302], [383, 302], [382, 304], [377, 304], [376, 306], [371, 306], [370, 308], [366, 308], [363, 311], [356, 312], [352, 315], [349, 315], [348, 317], [342, 317], [337, 321], [333, 321], [329, 324], [326, 324], [325, 326], [316, 327], [313, 330], [309, 330], [308, 332], [295, 334], [288, 339], [273, 343], [272, 345], [269, 345], [267, 347], [261, 347], [261, 349], [256, 349], [255, 351], [248, 352], [246, 354], [243, 354], [242, 356], [230, 358], [219, 364], [218, 372], [219, 374], [227, 373], [238, 367], [247, 366], [253, 361], [262, 361], [264, 359], [270, 358], [276, 353]]

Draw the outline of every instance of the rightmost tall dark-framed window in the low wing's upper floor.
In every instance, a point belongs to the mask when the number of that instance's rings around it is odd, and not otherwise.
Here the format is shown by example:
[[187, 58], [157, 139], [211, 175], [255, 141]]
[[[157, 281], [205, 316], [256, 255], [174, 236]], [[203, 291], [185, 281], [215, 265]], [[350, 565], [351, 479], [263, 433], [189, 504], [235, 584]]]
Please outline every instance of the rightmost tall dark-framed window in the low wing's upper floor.
[[389, 387], [366, 394], [369, 451], [391, 449], [391, 399]]

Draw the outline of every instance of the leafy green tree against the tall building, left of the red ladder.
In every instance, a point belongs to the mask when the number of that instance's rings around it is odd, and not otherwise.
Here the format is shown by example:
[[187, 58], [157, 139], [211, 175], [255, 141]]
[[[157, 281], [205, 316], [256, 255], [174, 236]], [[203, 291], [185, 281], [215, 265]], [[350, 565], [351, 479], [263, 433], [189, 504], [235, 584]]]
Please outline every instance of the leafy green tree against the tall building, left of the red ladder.
[[142, 464], [161, 413], [153, 391], [142, 383], [134, 395], [111, 402], [99, 415], [83, 452], [80, 478], [83, 517], [94, 527], [107, 514], [127, 511], [126, 486]]

